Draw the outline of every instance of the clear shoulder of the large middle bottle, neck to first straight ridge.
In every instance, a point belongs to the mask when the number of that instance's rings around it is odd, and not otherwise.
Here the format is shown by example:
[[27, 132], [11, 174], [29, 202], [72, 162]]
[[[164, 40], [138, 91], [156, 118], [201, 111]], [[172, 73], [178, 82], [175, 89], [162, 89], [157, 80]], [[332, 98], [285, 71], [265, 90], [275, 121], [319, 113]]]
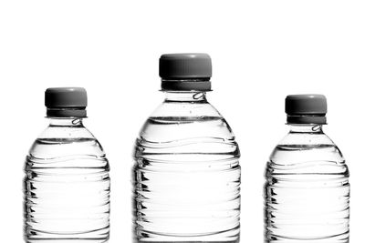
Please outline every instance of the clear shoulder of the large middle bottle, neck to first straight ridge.
[[172, 103], [164, 102], [141, 127], [135, 157], [156, 155], [161, 159], [162, 154], [171, 154], [175, 155], [172, 159], [193, 161], [210, 156], [239, 157], [235, 135], [214, 106], [207, 102]]

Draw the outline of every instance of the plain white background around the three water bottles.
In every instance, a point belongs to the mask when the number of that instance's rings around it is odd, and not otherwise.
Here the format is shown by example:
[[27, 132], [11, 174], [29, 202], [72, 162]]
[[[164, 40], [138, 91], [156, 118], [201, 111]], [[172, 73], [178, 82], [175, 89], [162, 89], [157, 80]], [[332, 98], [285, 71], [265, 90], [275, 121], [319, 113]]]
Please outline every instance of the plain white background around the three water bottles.
[[266, 159], [287, 133], [287, 94], [328, 97], [325, 127], [347, 158], [350, 238], [365, 205], [363, 1], [1, 1], [0, 234], [22, 242], [27, 149], [47, 126], [44, 90], [84, 86], [86, 126], [110, 159], [111, 243], [130, 242], [131, 149], [162, 102], [158, 58], [206, 52], [210, 102], [235, 131], [242, 158], [241, 242], [263, 242]]

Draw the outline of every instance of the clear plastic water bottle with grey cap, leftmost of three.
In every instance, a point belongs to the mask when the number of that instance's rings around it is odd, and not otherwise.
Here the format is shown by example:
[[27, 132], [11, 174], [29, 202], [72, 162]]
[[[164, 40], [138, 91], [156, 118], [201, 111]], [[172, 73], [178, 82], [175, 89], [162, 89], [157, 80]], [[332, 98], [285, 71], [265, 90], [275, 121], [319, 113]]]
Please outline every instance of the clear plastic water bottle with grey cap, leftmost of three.
[[82, 124], [86, 90], [48, 88], [45, 103], [49, 126], [26, 157], [25, 240], [107, 242], [110, 167], [98, 140]]

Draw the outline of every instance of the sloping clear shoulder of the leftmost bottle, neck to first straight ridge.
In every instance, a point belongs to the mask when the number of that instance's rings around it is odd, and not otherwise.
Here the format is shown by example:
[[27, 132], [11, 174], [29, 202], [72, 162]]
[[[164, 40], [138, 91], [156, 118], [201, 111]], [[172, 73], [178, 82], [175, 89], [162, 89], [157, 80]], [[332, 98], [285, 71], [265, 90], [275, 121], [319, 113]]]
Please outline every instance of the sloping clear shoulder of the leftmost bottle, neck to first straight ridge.
[[86, 127], [47, 127], [29, 149], [29, 167], [109, 167], [99, 141]]

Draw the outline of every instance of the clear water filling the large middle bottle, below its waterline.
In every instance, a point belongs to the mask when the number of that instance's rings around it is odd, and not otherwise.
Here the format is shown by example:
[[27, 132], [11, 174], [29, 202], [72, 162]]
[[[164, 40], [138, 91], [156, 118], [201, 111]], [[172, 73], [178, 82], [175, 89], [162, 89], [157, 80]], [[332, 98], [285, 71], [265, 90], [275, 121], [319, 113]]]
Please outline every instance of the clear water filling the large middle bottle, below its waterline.
[[222, 117], [151, 117], [135, 147], [135, 241], [238, 242], [238, 157]]

